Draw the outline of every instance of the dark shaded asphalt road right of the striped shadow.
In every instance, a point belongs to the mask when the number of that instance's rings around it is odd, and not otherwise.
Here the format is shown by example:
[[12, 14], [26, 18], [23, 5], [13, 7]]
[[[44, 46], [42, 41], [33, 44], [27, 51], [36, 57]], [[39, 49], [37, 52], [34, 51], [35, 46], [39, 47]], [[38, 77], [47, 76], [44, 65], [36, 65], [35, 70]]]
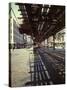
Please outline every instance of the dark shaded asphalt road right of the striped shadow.
[[64, 84], [65, 83], [65, 59], [59, 58], [58, 55], [55, 56], [50, 52], [46, 53], [45, 50], [41, 48], [37, 49], [44, 65], [50, 74], [53, 84]]

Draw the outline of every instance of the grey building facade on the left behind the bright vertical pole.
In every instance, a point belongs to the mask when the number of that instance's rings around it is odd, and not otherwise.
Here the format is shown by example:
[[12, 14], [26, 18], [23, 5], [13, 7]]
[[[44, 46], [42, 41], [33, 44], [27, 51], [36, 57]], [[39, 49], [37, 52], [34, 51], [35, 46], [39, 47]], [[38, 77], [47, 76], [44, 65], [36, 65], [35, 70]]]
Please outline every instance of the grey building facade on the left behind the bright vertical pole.
[[22, 48], [24, 44], [23, 34], [20, 34], [16, 21], [11, 18], [10, 25], [10, 44], [11, 48]]

